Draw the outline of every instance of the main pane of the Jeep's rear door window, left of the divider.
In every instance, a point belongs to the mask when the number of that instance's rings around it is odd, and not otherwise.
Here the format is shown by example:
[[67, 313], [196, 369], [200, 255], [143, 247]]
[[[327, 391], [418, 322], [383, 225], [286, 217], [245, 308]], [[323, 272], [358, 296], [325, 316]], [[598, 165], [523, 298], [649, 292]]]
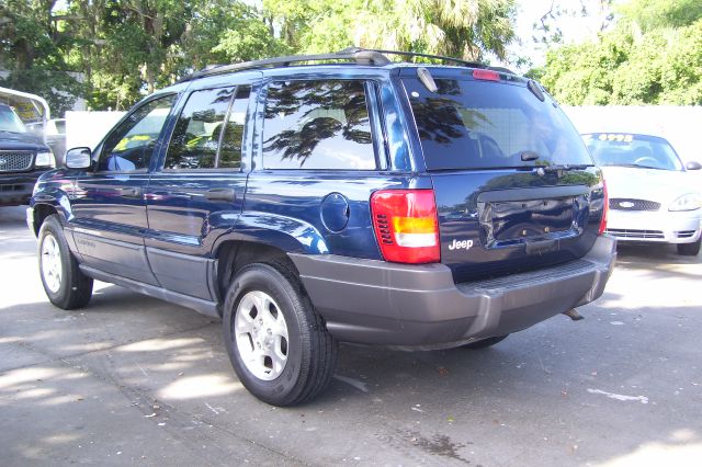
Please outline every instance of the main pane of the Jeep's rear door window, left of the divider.
[[234, 88], [206, 89], [190, 94], [178, 117], [165, 169], [214, 169], [224, 119]]

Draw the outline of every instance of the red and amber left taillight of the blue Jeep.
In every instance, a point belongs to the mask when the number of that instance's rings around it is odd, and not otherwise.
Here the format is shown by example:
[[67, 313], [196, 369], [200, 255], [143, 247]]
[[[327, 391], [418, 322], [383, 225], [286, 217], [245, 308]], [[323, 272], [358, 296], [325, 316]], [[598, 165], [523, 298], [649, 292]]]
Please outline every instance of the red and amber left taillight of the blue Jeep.
[[433, 190], [383, 190], [371, 196], [373, 228], [381, 253], [397, 263], [441, 259]]

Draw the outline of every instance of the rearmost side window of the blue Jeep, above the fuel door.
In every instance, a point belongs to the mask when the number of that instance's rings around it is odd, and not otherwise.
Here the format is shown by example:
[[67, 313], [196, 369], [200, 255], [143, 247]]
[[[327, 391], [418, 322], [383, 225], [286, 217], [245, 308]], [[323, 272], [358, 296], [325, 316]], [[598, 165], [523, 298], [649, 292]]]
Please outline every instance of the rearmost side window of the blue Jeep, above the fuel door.
[[272, 82], [263, 124], [263, 167], [375, 169], [364, 82]]

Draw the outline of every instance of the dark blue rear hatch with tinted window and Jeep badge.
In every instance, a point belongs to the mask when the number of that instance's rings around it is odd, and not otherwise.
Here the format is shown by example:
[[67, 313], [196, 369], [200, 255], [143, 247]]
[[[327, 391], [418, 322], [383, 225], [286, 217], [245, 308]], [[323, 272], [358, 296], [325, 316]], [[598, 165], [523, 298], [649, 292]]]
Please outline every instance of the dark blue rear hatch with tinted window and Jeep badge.
[[400, 81], [433, 183], [441, 262], [455, 282], [587, 253], [599, 234], [602, 180], [557, 104], [512, 75], [427, 69], [429, 79], [403, 69]]

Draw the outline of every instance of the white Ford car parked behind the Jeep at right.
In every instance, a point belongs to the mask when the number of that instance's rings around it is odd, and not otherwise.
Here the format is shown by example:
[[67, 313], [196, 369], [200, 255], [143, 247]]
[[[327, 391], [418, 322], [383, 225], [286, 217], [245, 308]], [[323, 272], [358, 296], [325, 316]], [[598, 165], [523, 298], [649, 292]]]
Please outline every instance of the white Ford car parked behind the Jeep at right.
[[700, 252], [702, 195], [692, 170], [670, 144], [656, 136], [582, 135], [602, 168], [609, 194], [607, 232], [620, 242], [676, 243], [679, 254]]

